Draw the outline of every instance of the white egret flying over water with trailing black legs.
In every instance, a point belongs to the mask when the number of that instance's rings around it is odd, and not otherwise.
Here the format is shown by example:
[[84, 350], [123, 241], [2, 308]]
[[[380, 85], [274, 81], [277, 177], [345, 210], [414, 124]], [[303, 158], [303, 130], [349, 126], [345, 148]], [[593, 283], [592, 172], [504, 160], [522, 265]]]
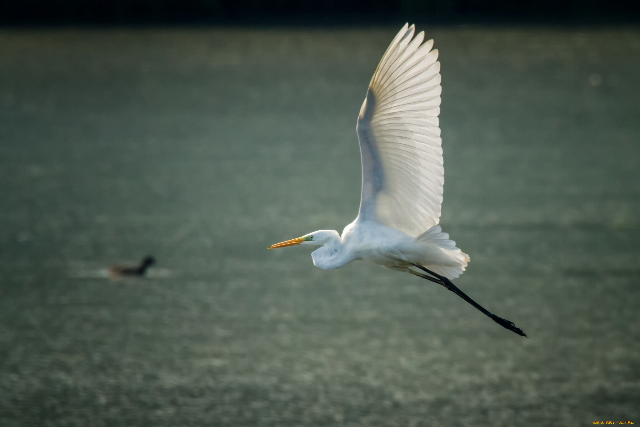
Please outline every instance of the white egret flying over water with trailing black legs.
[[433, 40], [404, 27], [374, 72], [358, 115], [362, 195], [358, 218], [342, 231], [318, 230], [272, 248], [320, 246], [311, 257], [324, 270], [355, 259], [406, 271], [456, 293], [496, 323], [527, 336], [451, 283], [469, 256], [442, 232], [444, 167], [438, 114], [440, 63]]

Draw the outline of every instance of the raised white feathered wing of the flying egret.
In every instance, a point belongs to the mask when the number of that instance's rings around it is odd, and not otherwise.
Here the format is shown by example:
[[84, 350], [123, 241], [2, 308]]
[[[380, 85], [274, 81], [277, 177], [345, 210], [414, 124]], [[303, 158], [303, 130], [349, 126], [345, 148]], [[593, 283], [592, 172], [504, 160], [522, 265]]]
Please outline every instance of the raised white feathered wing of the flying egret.
[[[440, 222], [444, 167], [440, 147], [440, 63], [405, 24], [371, 79], [358, 117], [362, 220], [418, 236]], [[413, 40], [412, 40], [413, 38]]]

